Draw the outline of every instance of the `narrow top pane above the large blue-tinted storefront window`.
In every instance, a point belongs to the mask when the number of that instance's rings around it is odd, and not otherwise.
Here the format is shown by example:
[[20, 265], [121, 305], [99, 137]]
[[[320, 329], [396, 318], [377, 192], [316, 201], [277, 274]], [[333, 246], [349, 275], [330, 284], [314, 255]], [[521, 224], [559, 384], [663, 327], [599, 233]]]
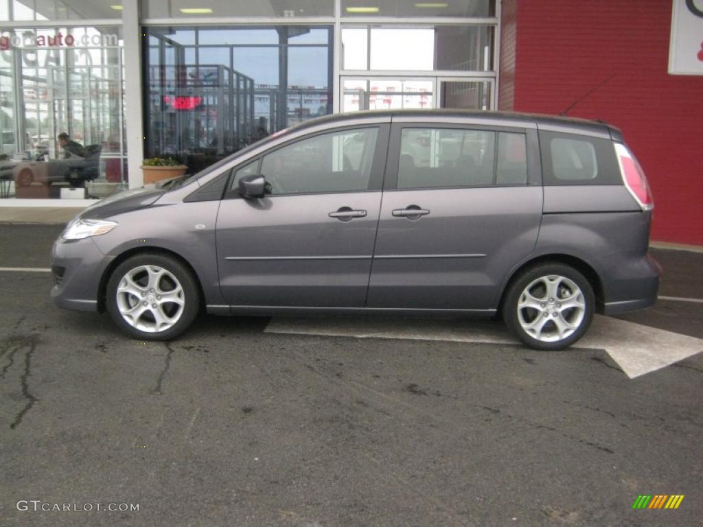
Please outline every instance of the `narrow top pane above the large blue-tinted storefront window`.
[[183, 0], [144, 0], [143, 18], [193, 18], [198, 16], [311, 17], [333, 16], [334, 0], [227, 0], [207, 6]]

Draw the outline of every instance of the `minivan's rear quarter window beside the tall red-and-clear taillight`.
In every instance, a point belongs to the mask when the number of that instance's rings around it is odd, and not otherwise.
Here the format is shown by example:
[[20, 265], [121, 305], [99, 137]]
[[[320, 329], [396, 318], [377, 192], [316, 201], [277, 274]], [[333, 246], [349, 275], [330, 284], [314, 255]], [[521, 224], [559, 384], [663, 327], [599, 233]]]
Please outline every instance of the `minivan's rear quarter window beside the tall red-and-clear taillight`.
[[543, 183], [564, 185], [621, 185], [612, 141], [576, 134], [541, 131]]

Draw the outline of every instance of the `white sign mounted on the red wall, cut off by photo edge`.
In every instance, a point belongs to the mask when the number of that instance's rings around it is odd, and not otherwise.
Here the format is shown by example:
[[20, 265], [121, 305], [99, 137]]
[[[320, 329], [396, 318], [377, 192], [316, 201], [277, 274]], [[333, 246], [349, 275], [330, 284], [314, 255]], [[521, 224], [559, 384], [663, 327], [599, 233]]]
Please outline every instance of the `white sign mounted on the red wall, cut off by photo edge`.
[[673, 0], [669, 73], [703, 75], [703, 0]]

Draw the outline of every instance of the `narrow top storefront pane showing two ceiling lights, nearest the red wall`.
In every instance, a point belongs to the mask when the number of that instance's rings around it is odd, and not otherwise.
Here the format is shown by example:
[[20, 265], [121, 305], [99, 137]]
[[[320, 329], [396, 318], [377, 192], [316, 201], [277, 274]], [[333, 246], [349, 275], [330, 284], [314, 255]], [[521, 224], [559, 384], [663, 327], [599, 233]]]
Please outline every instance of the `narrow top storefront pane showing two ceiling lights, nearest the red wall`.
[[495, 0], [452, 0], [415, 2], [396, 0], [342, 0], [342, 16], [393, 17], [486, 17], [496, 15]]

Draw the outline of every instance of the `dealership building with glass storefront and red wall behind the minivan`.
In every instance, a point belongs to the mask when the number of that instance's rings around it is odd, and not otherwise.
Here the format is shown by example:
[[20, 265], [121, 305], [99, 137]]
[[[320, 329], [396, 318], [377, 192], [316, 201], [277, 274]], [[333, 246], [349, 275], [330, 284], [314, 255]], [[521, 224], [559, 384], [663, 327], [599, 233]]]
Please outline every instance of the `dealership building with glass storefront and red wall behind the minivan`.
[[508, 110], [621, 128], [652, 239], [703, 246], [702, 75], [703, 0], [0, 0], [0, 207], [330, 113]]

